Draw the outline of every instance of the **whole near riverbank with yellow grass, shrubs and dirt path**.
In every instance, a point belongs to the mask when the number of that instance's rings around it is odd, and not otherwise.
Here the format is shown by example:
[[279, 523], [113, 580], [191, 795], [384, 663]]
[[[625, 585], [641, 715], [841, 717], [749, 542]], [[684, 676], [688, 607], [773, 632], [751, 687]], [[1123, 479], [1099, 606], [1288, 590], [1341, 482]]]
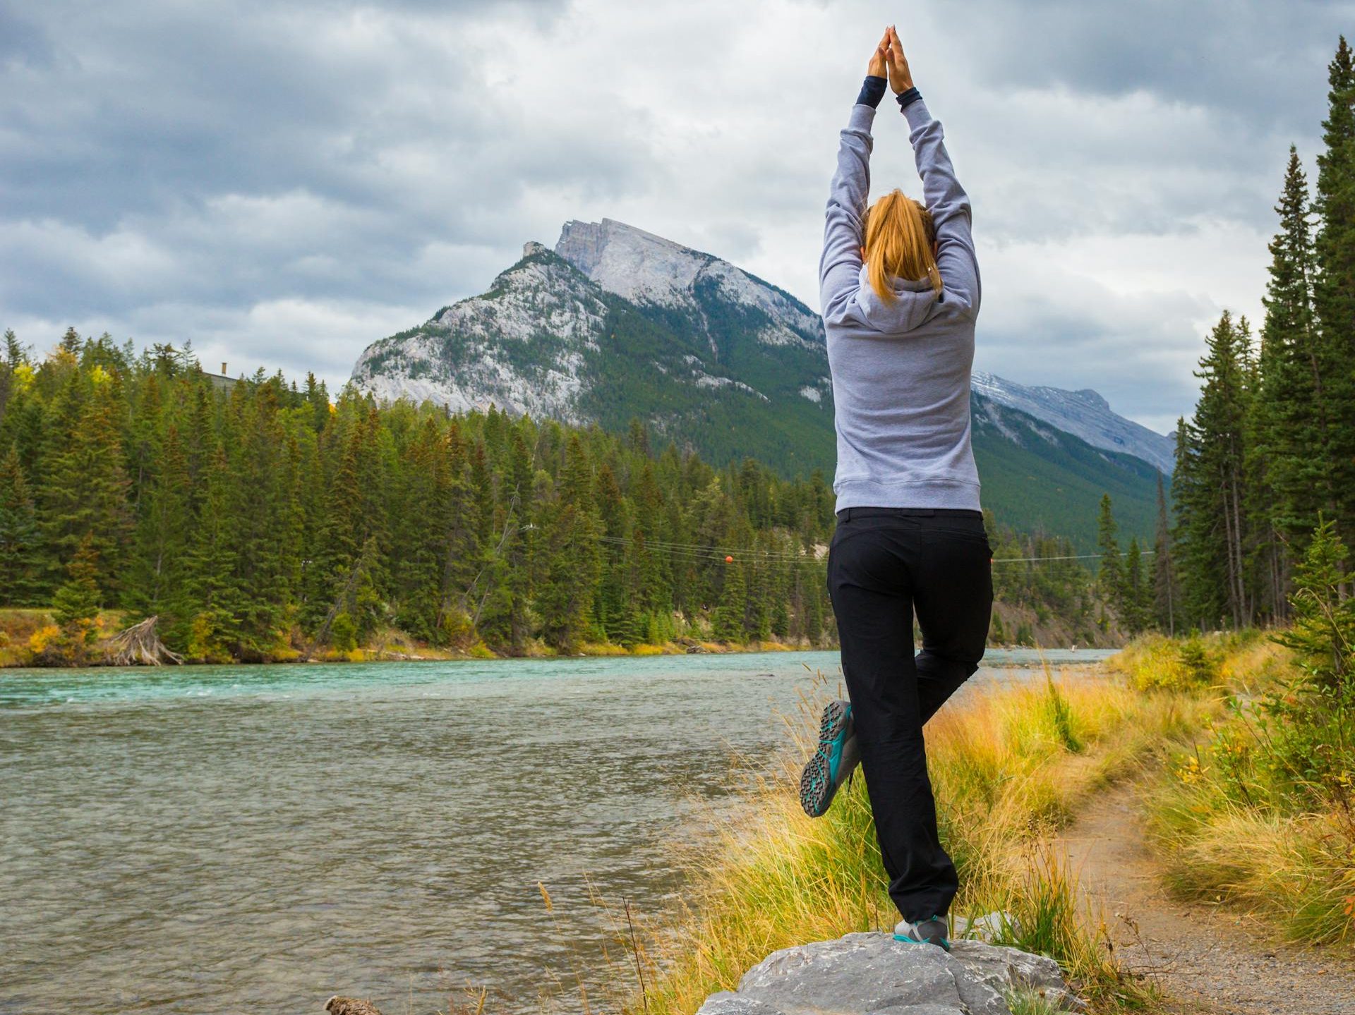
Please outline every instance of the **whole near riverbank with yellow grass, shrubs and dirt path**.
[[[1285, 725], [1280, 713], [1293, 720], [1302, 694], [1299, 663], [1257, 631], [1153, 636], [1103, 668], [943, 710], [927, 741], [961, 874], [953, 916], [1015, 916], [999, 940], [1056, 958], [1095, 1012], [1249, 1012], [1286, 992], [1286, 1007], [1270, 1010], [1347, 1011], [1337, 999], [1355, 982], [1352, 772], [1336, 764], [1321, 791], [1314, 776], [1324, 759], [1331, 770], [1333, 755], [1350, 756], [1340, 752], [1351, 728]], [[818, 821], [797, 805], [798, 762], [828, 697], [821, 686], [804, 702], [799, 751], [748, 800], [747, 821], [688, 856], [692, 888], [678, 915], [630, 951], [642, 989], [635, 969], [615, 969], [630, 1011], [686, 1015], [771, 951], [893, 923], [863, 781]], [[1295, 737], [1313, 752], [1297, 782], [1283, 762]], [[1108, 866], [1084, 870], [1089, 843], [1112, 851]], [[1111, 869], [1118, 881], [1098, 877]], [[1202, 903], [1233, 915], [1215, 923], [1190, 908]], [[1240, 920], [1270, 947], [1209, 930]], [[1175, 935], [1183, 962], [1209, 966], [1201, 976], [1215, 993], [1165, 976], [1144, 928], [1159, 943]], [[1278, 939], [1301, 949], [1276, 958]], [[1304, 950], [1324, 942], [1325, 951]], [[1263, 982], [1257, 969], [1274, 976]], [[1205, 1007], [1183, 1008], [1168, 992]], [[1260, 1007], [1207, 1004], [1244, 996]]]

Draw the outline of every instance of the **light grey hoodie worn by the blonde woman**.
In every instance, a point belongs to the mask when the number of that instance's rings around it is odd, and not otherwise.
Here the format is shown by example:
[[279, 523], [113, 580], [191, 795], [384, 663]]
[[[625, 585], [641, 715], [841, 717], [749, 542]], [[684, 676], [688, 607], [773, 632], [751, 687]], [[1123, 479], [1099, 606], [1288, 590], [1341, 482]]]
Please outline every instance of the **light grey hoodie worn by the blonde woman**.
[[978, 316], [978, 263], [969, 196], [946, 154], [940, 121], [921, 99], [904, 107], [936, 224], [943, 289], [894, 279], [883, 302], [860, 260], [875, 110], [852, 106], [837, 149], [818, 266], [837, 430], [837, 510], [978, 510], [969, 443], [969, 373]]

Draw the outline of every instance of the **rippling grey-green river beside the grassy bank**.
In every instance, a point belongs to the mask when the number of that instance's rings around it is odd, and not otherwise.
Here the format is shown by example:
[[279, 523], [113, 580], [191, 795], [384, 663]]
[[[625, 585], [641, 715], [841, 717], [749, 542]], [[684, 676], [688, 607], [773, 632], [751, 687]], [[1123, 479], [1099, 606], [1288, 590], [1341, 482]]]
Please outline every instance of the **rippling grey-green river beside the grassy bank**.
[[[1107, 653], [1046, 653], [1092, 661]], [[1024, 679], [992, 652], [962, 694]], [[836, 652], [0, 671], [0, 1012], [538, 1011]], [[546, 912], [538, 882], [550, 893]], [[554, 987], [557, 982], [564, 988]], [[570, 1000], [564, 1006], [579, 1008]]]

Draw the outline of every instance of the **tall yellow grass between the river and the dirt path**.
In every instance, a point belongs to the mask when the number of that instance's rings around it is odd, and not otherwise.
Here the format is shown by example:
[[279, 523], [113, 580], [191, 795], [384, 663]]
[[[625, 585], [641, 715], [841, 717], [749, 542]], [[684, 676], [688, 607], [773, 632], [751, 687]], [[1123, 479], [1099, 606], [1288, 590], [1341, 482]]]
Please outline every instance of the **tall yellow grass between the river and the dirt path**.
[[[863, 778], [810, 820], [797, 800], [827, 686], [794, 721], [798, 749], [749, 798], [745, 820], [717, 829], [691, 856], [692, 888], [675, 919], [650, 927], [646, 989], [629, 1001], [648, 1015], [690, 1015], [732, 989], [771, 951], [850, 931], [889, 930], [897, 912], [875, 844]], [[1099, 915], [1079, 896], [1053, 835], [1093, 789], [1123, 774], [1164, 734], [1188, 729], [1198, 703], [1137, 694], [1081, 674], [1007, 686], [947, 706], [927, 728], [942, 836], [961, 875], [951, 912], [1004, 909], [1009, 942], [1058, 959], [1102, 1011], [1141, 1008], [1152, 992], [1123, 974]], [[625, 976], [626, 966], [617, 965]], [[634, 970], [626, 976], [635, 982]]]

